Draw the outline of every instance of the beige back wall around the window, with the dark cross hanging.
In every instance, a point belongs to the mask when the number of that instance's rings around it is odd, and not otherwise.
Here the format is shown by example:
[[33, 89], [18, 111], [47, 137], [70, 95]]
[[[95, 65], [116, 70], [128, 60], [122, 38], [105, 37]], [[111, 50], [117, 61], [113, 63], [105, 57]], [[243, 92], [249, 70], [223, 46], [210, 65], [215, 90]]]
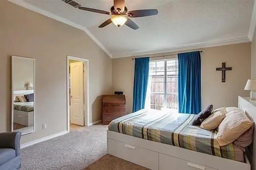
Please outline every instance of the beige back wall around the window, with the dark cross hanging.
[[[189, 51], [196, 50], [201, 49]], [[209, 104], [213, 104], [214, 108], [237, 106], [238, 95], [249, 96], [249, 92], [244, 90], [244, 85], [247, 79], [250, 78], [251, 43], [209, 47], [202, 50], [202, 107]], [[165, 55], [167, 54], [172, 53], [166, 53]], [[226, 67], [232, 67], [232, 71], [226, 71], [226, 83], [221, 82], [221, 71], [216, 71], [216, 67], [221, 67], [222, 62], [226, 62]], [[124, 91], [127, 100], [127, 113], [132, 112], [133, 79], [134, 60], [132, 60], [132, 57], [113, 59], [113, 89]]]

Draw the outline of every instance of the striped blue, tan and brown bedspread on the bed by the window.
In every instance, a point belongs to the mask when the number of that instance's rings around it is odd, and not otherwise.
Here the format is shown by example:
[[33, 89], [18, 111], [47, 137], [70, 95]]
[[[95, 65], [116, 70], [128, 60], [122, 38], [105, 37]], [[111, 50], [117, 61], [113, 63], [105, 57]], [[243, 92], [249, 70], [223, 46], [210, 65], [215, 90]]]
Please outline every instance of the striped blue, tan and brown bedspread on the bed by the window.
[[191, 125], [195, 115], [142, 109], [113, 120], [108, 130], [244, 162], [243, 150], [234, 144], [220, 146], [217, 130]]

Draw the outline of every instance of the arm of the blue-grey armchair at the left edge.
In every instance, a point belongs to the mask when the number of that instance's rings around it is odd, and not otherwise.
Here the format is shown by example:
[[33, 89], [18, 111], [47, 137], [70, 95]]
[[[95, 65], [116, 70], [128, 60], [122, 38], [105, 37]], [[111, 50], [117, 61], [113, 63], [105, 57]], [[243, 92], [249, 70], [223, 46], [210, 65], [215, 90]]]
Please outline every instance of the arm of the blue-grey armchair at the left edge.
[[16, 156], [20, 155], [20, 137], [21, 132], [3, 132], [0, 133], [0, 148], [12, 148]]

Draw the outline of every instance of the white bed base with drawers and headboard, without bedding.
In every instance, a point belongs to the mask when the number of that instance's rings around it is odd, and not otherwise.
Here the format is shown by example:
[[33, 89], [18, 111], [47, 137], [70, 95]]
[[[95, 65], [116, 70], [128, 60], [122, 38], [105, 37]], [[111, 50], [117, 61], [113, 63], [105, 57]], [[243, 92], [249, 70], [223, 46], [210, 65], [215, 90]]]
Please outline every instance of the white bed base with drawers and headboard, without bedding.
[[[238, 97], [238, 103], [256, 122], [256, 104], [246, 97]], [[110, 130], [107, 130], [108, 154], [152, 170], [256, 170], [255, 129], [254, 142], [244, 154], [244, 163]]]

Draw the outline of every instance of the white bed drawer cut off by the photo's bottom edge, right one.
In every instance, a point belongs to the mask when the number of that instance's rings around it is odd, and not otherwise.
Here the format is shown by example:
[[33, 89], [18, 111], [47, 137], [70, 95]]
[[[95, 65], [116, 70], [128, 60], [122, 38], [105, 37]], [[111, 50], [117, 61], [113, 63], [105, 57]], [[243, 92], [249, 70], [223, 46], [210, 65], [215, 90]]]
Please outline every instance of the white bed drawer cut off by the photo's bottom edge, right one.
[[216, 170], [165, 154], [159, 154], [159, 170]]

